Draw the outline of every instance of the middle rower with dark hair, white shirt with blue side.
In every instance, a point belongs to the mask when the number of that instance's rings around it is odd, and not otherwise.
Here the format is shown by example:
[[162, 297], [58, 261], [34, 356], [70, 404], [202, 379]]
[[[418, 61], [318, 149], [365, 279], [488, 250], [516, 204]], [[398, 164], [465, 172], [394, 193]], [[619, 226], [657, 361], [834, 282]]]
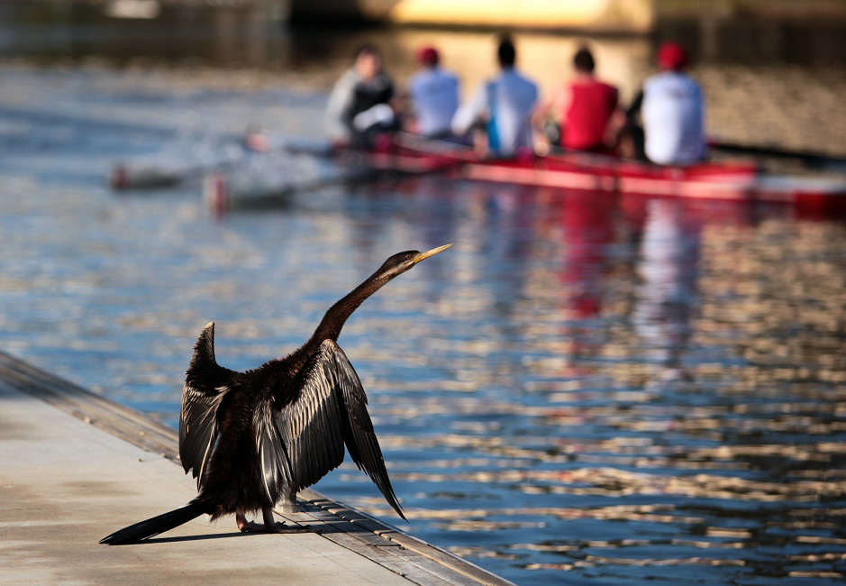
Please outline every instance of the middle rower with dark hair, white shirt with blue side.
[[532, 148], [532, 113], [538, 103], [538, 87], [514, 70], [516, 51], [504, 37], [496, 50], [502, 72], [478, 88], [472, 99], [459, 107], [452, 119], [452, 132], [465, 134], [484, 122], [487, 147], [499, 155]]

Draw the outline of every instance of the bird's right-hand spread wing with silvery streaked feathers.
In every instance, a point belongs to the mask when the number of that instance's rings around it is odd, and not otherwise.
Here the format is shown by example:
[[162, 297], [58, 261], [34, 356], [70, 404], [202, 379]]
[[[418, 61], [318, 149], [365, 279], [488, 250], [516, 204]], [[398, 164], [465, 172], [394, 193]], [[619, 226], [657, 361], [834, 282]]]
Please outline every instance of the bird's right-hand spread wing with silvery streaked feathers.
[[323, 478], [343, 462], [346, 444], [359, 470], [368, 473], [405, 519], [368, 415], [367, 395], [341, 347], [324, 341], [305, 362], [294, 387], [293, 402], [268, 405], [259, 416], [263, 421], [257, 441], [268, 497], [275, 500], [284, 482], [296, 492]]

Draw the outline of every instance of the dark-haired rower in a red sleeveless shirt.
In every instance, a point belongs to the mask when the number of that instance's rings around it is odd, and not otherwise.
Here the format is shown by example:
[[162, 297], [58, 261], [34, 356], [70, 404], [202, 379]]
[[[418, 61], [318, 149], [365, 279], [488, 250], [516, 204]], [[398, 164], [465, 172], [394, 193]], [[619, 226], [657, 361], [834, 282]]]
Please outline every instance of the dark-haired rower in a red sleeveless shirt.
[[559, 112], [562, 147], [572, 151], [611, 152], [613, 121], [617, 110], [617, 88], [594, 77], [596, 62], [590, 50], [582, 48], [573, 57], [576, 77], [534, 116], [539, 126], [550, 111]]

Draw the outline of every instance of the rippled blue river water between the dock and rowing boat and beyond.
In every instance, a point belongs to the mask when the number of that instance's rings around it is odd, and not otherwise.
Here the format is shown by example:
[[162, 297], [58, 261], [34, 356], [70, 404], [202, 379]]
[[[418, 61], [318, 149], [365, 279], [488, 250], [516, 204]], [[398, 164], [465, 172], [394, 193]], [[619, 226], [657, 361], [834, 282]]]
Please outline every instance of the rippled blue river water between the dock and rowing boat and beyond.
[[110, 192], [110, 163], [258, 108], [314, 128], [322, 94], [2, 75], [3, 349], [175, 426], [206, 322], [249, 368], [388, 255], [455, 242], [340, 340], [410, 524], [349, 463], [318, 490], [523, 584], [841, 583], [840, 221], [434, 176], [215, 218], [194, 184]]

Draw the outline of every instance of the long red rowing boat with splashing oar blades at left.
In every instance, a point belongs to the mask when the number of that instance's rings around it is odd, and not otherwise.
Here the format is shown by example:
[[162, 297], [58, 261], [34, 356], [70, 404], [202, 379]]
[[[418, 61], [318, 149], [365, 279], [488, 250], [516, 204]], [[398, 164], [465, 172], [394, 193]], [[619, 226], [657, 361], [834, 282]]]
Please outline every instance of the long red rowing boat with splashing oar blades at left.
[[[249, 143], [249, 142], [248, 142]], [[442, 172], [459, 179], [550, 189], [584, 189], [648, 197], [705, 198], [779, 202], [816, 215], [846, 212], [846, 181], [823, 176], [785, 177], [763, 172], [744, 161], [705, 161], [660, 166], [586, 152], [509, 159], [482, 158], [468, 147], [400, 133], [368, 151], [332, 149], [323, 142], [270, 140], [266, 152], [216, 146], [205, 156], [179, 160], [168, 156], [124, 166], [123, 182], [174, 183], [198, 174], [203, 192], [218, 211], [275, 205], [291, 193], [346, 180], [371, 179], [374, 173]], [[132, 169], [130, 172], [128, 169]], [[115, 184], [118, 182], [115, 181]]]

